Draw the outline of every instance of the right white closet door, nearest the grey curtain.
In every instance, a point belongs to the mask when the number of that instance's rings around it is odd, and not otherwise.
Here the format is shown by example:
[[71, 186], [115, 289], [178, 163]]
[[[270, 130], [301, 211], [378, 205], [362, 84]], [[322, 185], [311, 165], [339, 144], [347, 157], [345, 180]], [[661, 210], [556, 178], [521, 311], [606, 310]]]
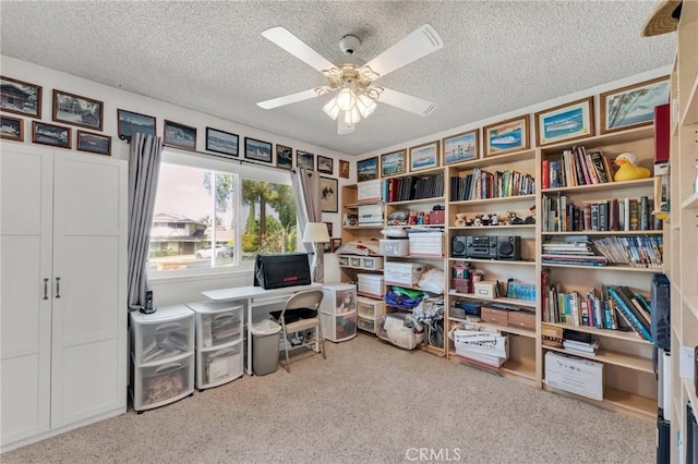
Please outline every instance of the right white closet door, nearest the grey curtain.
[[128, 317], [127, 164], [61, 154], [55, 171], [52, 428], [125, 412]]

